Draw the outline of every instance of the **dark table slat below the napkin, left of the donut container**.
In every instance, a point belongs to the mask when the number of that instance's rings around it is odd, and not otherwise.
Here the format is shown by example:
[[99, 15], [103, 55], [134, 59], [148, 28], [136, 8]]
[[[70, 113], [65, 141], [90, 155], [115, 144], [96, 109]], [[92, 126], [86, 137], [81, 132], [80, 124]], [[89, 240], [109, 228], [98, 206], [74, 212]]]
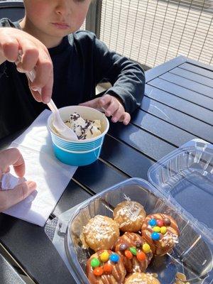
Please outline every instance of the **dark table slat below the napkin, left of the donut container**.
[[0, 241], [39, 284], [75, 283], [43, 227], [0, 214]]

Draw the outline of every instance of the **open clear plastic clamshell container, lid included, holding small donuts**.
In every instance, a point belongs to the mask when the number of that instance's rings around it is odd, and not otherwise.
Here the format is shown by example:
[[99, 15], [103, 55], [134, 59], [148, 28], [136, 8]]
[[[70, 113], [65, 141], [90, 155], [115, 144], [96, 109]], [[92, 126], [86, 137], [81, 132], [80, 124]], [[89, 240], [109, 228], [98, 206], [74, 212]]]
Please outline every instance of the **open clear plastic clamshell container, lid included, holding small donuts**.
[[153, 165], [148, 175], [154, 186], [132, 178], [86, 200], [73, 212], [65, 251], [76, 283], [89, 284], [85, 268], [94, 253], [82, 249], [83, 226], [97, 214], [112, 217], [114, 207], [127, 197], [140, 202], [147, 214], [169, 214], [180, 229], [173, 251], [153, 258], [147, 272], [157, 273], [162, 284], [175, 283], [178, 272], [185, 274], [190, 284], [213, 283], [213, 146], [190, 141]]

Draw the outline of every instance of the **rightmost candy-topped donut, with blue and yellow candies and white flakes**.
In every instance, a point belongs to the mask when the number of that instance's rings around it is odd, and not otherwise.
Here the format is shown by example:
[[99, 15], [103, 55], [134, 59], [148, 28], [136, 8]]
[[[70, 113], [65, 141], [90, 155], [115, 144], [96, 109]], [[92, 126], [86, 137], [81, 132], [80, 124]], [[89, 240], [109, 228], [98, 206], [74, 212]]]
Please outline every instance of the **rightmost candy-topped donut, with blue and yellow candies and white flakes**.
[[173, 246], [178, 243], [180, 235], [178, 224], [173, 217], [160, 213], [146, 217], [141, 233], [151, 246], [155, 256], [163, 256], [173, 249]]

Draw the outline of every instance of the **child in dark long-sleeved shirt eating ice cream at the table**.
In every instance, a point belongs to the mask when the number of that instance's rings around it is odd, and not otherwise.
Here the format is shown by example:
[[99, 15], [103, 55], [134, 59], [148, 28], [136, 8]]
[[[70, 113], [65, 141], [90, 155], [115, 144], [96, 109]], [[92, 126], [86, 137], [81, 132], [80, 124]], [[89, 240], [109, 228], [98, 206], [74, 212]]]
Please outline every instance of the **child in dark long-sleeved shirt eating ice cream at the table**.
[[[0, 138], [31, 124], [46, 108], [40, 102], [49, 102], [52, 91], [58, 108], [83, 103], [103, 108], [113, 122], [129, 124], [130, 113], [141, 104], [144, 72], [109, 51], [93, 33], [77, 31], [90, 1], [23, 0], [26, 14], [21, 21], [1, 19]], [[16, 67], [18, 50], [23, 55]], [[24, 72], [34, 67], [36, 77], [31, 83]], [[95, 87], [102, 80], [112, 87], [96, 97]], [[38, 88], [42, 88], [41, 96]]]

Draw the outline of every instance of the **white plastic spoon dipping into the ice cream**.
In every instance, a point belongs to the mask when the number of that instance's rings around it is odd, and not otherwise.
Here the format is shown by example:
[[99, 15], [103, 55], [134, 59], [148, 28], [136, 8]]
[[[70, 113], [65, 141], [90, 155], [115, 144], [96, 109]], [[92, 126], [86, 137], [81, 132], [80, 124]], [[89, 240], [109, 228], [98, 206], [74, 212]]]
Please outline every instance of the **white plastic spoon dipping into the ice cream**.
[[[18, 60], [21, 62], [21, 54], [18, 55]], [[26, 72], [26, 76], [29, 78], [31, 82], [35, 79], [35, 70], [31, 72]], [[41, 93], [41, 89], [38, 89], [38, 92]], [[72, 129], [70, 129], [66, 124], [62, 121], [58, 108], [55, 106], [53, 99], [50, 99], [48, 103], [48, 107], [51, 111], [53, 111], [53, 126], [60, 133], [61, 136], [68, 140], [78, 140], [77, 135]]]

